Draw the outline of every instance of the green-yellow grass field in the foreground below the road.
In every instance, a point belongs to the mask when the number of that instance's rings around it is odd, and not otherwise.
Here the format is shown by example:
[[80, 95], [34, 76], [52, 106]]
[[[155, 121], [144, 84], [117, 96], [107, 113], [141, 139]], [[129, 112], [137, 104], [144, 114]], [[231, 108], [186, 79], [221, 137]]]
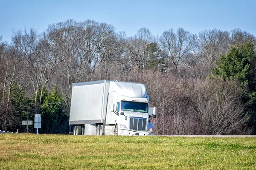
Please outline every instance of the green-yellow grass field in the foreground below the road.
[[0, 134], [0, 169], [256, 169], [256, 138]]

